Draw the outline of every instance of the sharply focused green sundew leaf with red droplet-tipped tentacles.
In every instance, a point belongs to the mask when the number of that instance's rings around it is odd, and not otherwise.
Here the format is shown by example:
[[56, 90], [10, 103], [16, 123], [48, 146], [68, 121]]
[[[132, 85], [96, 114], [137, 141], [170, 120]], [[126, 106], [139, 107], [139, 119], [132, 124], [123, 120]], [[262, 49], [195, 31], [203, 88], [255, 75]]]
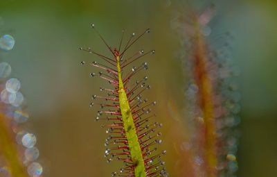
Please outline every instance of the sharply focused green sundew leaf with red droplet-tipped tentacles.
[[[166, 151], [158, 151], [157, 149], [157, 144], [161, 144], [161, 133], [157, 133], [156, 129], [160, 128], [162, 124], [151, 120], [156, 115], [151, 113], [150, 106], [156, 105], [156, 101], [149, 103], [148, 99], [143, 99], [141, 95], [145, 90], [150, 89], [150, 85], [145, 83], [148, 76], [132, 82], [139, 71], [148, 69], [148, 63], [143, 62], [139, 67], [130, 67], [143, 56], [154, 54], [155, 51], [140, 50], [125, 58], [128, 49], [143, 35], [150, 33], [150, 29], [146, 29], [138, 37], [132, 33], [124, 47], [125, 31], [123, 31], [119, 46], [112, 49], [94, 24], [91, 24], [91, 28], [105, 43], [111, 56], [96, 53], [91, 48], [80, 48], [82, 51], [93, 53], [101, 58], [102, 62], [105, 62], [104, 64], [98, 62], [90, 64], [101, 70], [98, 74], [91, 73], [91, 77], [98, 76], [108, 81], [112, 86], [112, 88], [100, 87], [100, 91], [105, 92], [107, 96], [94, 94], [92, 96], [93, 101], [100, 103], [90, 103], [91, 107], [100, 106], [101, 110], [98, 111], [96, 121], [109, 122], [102, 124], [103, 128], [107, 128], [106, 133], [109, 134], [105, 142], [107, 162], [120, 160], [124, 164], [120, 171], [111, 173], [111, 176], [168, 176], [164, 167], [165, 162], [161, 160], [161, 155], [164, 155]], [[84, 65], [84, 62], [81, 63]]]

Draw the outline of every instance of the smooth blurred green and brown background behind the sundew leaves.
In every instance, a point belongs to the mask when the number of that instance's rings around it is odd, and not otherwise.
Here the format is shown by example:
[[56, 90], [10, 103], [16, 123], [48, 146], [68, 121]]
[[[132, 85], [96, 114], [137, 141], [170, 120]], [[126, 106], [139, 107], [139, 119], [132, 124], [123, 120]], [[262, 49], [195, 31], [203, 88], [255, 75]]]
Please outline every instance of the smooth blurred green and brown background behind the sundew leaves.
[[[212, 1], [199, 1], [208, 6]], [[150, 69], [152, 90], [145, 95], [156, 100], [157, 121], [163, 123], [163, 158], [170, 176], [181, 167], [181, 145], [188, 138], [184, 121], [186, 76], [178, 54], [178, 35], [170, 24], [179, 5], [169, 0], [1, 0], [1, 35], [15, 38], [15, 47], [1, 55], [12, 66], [12, 77], [21, 81], [28, 101], [30, 119], [26, 126], [37, 135], [39, 162], [44, 176], [110, 176], [120, 163], [107, 164], [105, 130], [95, 122], [96, 109], [89, 108], [92, 94], [103, 82], [91, 78], [93, 68], [80, 65], [98, 60], [79, 47], [107, 53], [91, 30], [98, 31], [111, 46], [118, 45], [121, 30], [150, 35], [134, 46], [155, 49], [156, 55], [143, 58]], [[232, 56], [240, 67], [241, 123], [238, 149], [238, 176], [274, 176], [277, 164], [277, 3], [276, 1], [215, 1], [215, 35], [234, 34]], [[184, 8], [186, 9], [186, 8]], [[184, 10], [185, 11], [185, 10]], [[185, 12], [184, 12], [185, 13]], [[186, 175], [184, 175], [186, 176]]]

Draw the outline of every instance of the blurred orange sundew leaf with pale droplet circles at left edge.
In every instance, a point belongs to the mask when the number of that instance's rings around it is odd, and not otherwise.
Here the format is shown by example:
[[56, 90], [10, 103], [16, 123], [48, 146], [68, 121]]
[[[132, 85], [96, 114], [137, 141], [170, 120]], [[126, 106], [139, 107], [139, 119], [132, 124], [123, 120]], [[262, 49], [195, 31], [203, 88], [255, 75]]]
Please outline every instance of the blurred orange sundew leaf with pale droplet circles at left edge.
[[[11, 35], [1, 34], [0, 55], [14, 45], [15, 39]], [[35, 162], [39, 157], [35, 147], [37, 139], [22, 125], [29, 116], [24, 96], [19, 92], [20, 81], [8, 78], [11, 70], [8, 62], [0, 62], [0, 176], [41, 176], [42, 166]]]

